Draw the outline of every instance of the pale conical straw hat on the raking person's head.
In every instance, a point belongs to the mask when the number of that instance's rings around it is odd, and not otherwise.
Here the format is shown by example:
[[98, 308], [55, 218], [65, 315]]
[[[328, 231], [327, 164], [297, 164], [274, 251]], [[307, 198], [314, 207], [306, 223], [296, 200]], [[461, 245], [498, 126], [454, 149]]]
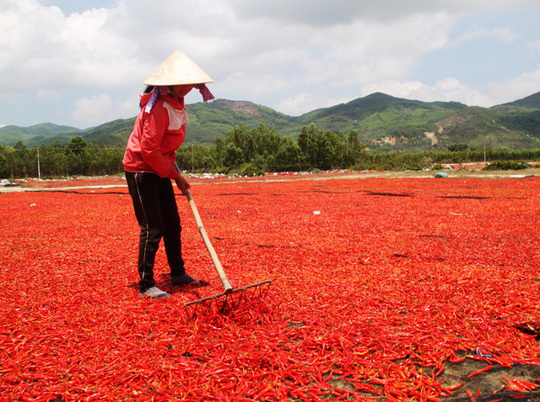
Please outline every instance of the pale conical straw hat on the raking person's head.
[[145, 85], [169, 86], [214, 82], [193, 60], [175, 50], [144, 81]]

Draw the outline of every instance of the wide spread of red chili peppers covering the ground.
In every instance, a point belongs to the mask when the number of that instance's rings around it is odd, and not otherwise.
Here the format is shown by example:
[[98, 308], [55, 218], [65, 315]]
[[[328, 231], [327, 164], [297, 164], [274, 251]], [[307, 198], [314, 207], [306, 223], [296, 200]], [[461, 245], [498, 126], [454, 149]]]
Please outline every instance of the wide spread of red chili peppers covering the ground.
[[180, 195], [211, 285], [173, 287], [160, 250], [173, 297], [147, 300], [125, 187], [0, 194], [0, 399], [440, 400], [480, 391], [442, 380], [477, 350], [540, 365], [516, 328], [540, 322], [540, 179], [192, 184], [231, 283], [274, 279], [265, 299], [187, 319], [222, 289]]

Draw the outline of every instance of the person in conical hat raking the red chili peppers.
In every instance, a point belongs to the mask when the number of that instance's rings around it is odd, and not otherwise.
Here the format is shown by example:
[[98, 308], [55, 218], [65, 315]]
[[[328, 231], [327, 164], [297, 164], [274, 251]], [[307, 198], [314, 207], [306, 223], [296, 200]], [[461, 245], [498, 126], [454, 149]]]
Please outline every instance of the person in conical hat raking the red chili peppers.
[[154, 261], [161, 239], [173, 285], [201, 283], [186, 273], [182, 258], [182, 226], [173, 180], [182, 194], [190, 187], [176, 168], [176, 150], [182, 145], [188, 121], [184, 97], [197, 88], [204, 101], [214, 99], [206, 87], [213, 82], [180, 50], [173, 52], [144, 81], [140, 111], [127, 141], [123, 165], [133, 201], [139, 234], [139, 293], [150, 298], [171, 295], [156, 286]]

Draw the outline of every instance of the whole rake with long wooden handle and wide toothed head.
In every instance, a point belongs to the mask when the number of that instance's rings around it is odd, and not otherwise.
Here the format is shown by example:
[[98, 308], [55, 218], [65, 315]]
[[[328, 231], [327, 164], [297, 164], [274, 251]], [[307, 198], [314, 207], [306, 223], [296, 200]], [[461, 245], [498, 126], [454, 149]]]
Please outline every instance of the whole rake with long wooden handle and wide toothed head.
[[[208, 234], [206, 233], [206, 230], [204, 229], [201, 216], [199, 215], [199, 211], [197, 210], [195, 201], [193, 201], [193, 196], [191, 195], [191, 191], [189, 191], [189, 189], [186, 189], [185, 195], [188, 199], [189, 206], [191, 207], [191, 212], [193, 212], [193, 217], [195, 218], [195, 222], [197, 223], [197, 228], [199, 229], [199, 233], [201, 234], [201, 237], [203, 238], [206, 249], [208, 250], [208, 253], [210, 254], [210, 258], [212, 259], [214, 268], [223, 285], [222, 293], [185, 303], [184, 309], [186, 310], [188, 317], [190, 318], [195, 317], [198, 311], [208, 313], [212, 310], [214, 306], [220, 314], [223, 314], [228, 311], [237, 309], [238, 306], [246, 300], [252, 300], [255, 297], [264, 298], [270, 288], [269, 285], [272, 282], [271, 279], [254, 283], [252, 285], [239, 287], [239, 288], [233, 288], [231, 286], [229, 279], [227, 278], [227, 275], [225, 274], [225, 270], [223, 269], [223, 266], [221, 265], [221, 262], [219, 261], [217, 253], [214, 250], [214, 247], [212, 246], [212, 242], [208, 238]], [[268, 286], [265, 287], [265, 285], [268, 285]], [[246, 291], [248, 289], [253, 289], [255, 290], [255, 292], [251, 292], [251, 295], [247, 295]], [[236, 295], [236, 296], [233, 297], [233, 295]], [[192, 309], [192, 314], [189, 314], [188, 312], [189, 309]]]

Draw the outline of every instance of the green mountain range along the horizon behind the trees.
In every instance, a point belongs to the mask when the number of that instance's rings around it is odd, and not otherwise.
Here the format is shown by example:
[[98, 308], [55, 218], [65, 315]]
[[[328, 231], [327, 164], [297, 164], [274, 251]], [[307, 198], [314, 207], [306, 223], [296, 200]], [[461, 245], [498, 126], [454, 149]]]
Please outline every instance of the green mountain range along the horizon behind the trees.
[[[515, 102], [481, 108], [457, 102], [421, 102], [374, 93], [351, 102], [293, 117], [246, 101], [218, 99], [187, 106], [189, 123], [186, 144], [213, 144], [238, 124], [248, 129], [264, 124], [282, 135], [297, 137], [312, 123], [319, 130], [348, 134], [375, 151], [445, 150], [466, 144], [492, 148], [540, 147], [540, 92]], [[78, 130], [50, 123], [32, 127], [0, 128], [0, 144], [23, 141], [28, 147], [67, 143], [81, 136], [88, 143], [124, 146], [135, 118], [114, 120], [98, 127]]]

